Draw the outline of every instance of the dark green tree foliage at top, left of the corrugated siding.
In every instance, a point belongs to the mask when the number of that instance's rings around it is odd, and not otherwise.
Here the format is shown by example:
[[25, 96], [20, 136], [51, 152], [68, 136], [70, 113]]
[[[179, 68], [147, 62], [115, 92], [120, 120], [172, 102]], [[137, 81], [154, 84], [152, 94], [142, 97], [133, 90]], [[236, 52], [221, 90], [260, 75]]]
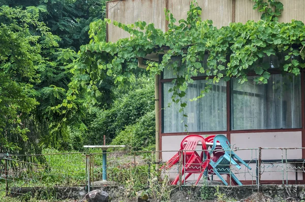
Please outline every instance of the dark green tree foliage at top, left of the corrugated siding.
[[97, 19], [104, 19], [105, 0], [2, 0], [0, 4], [10, 7], [38, 7], [43, 11], [40, 20], [44, 21], [50, 31], [59, 36], [60, 48], [72, 48], [75, 51], [89, 42], [89, 24]]

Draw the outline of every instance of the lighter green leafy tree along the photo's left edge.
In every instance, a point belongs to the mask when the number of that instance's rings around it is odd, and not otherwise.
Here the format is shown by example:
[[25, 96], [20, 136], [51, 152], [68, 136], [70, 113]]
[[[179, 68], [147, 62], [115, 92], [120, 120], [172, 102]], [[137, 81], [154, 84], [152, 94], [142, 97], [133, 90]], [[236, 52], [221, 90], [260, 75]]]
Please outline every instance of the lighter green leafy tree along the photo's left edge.
[[38, 105], [34, 85], [46, 60], [42, 51], [58, 46], [59, 38], [39, 21], [38, 8], [2, 6], [0, 18], [0, 152], [39, 152], [37, 137], [27, 136], [27, 120]]

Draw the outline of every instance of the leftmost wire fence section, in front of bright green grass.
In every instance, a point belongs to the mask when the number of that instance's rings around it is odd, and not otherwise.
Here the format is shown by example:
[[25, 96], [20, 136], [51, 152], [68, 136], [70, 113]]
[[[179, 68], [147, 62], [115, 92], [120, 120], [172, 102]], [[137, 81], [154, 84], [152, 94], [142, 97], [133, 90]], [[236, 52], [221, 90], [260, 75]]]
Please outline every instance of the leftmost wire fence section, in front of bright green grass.
[[[0, 160], [0, 191], [12, 188], [85, 186], [86, 156], [82, 152], [6, 155]], [[14, 189], [15, 190], [15, 189]]]

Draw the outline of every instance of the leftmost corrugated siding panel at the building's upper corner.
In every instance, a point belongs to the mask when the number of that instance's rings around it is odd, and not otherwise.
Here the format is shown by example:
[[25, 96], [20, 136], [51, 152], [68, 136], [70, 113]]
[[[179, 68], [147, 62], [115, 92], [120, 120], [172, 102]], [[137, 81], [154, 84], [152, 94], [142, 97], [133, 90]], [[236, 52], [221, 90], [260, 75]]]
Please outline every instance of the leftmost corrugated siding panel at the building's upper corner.
[[[154, 23], [156, 28], [165, 31], [164, 0], [125, 0], [107, 2], [107, 18], [123, 24], [136, 21]], [[107, 25], [107, 41], [116, 42], [118, 39], [129, 37], [129, 33], [114, 26]]]

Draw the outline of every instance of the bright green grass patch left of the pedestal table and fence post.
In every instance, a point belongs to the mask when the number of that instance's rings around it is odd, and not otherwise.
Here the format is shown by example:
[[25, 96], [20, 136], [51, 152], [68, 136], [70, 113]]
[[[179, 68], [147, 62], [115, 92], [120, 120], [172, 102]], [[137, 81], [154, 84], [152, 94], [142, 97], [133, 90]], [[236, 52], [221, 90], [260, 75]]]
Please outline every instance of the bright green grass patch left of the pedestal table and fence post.
[[[85, 184], [85, 155], [44, 150], [44, 163], [9, 161], [9, 187], [50, 187]], [[2, 180], [4, 181], [4, 180]], [[3, 189], [3, 183], [1, 183]]]

